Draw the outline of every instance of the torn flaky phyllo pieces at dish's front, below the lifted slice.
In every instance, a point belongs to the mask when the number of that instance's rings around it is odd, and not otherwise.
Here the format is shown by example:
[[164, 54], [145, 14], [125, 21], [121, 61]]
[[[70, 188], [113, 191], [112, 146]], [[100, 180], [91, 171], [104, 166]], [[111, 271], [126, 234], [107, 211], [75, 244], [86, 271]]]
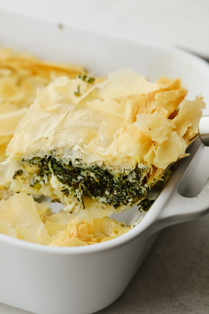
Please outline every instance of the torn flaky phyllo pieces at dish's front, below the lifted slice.
[[[134, 224], [137, 225], [142, 217]], [[133, 228], [108, 217], [78, 222], [78, 217], [49, 203], [34, 202], [31, 195], [14, 193], [0, 201], [0, 233], [16, 239], [50, 246], [83, 246], [104, 242]]]

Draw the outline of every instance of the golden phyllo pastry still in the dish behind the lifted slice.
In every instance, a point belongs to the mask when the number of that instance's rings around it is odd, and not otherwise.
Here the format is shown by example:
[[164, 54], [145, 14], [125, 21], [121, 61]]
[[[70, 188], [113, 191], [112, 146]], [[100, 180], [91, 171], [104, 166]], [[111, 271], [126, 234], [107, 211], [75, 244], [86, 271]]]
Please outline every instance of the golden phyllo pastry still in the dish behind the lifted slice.
[[76, 78], [81, 70], [73, 65], [41, 61], [28, 53], [0, 49], [0, 161], [5, 158], [18, 122], [34, 102], [36, 89], [46, 87], [55, 77]]

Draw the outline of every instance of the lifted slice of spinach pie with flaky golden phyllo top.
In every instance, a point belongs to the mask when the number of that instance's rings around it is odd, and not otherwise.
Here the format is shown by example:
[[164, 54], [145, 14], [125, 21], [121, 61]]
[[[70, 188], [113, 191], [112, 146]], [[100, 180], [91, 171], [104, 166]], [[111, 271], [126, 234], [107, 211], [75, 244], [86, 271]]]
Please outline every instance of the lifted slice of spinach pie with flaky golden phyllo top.
[[56, 79], [37, 92], [8, 145], [7, 184], [86, 217], [146, 208], [150, 186], [198, 131], [205, 103], [186, 93], [178, 78], [150, 83], [129, 69], [102, 83]]

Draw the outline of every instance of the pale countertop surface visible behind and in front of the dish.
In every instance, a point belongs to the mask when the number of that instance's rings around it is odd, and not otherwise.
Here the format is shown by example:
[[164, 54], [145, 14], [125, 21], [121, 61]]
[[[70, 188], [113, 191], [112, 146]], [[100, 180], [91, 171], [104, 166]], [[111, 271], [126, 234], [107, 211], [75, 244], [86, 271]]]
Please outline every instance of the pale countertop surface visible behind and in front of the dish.
[[[7, 0], [0, 7], [181, 46], [209, 57], [208, 0]], [[124, 294], [97, 313], [208, 314], [208, 230], [209, 215], [163, 230]], [[0, 313], [29, 314], [4, 304]]]

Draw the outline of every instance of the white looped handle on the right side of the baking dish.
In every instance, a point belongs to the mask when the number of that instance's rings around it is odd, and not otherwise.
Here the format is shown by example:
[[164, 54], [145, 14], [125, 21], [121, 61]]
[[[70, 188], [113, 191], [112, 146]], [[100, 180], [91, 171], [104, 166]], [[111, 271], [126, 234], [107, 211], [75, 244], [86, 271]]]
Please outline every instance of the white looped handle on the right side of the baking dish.
[[[165, 198], [168, 199], [168, 201], [165, 203], [163, 208], [161, 204], [161, 210], [159, 210], [159, 214], [154, 220], [151, 228], [152, 233], [169, 225], [186, 222], [209, 213], [209, 178], [199, 195], [196, 197], [183, 197], [177, 192], [180, 179], [184, 175], [186, 169], [187, 171], [190, 170], [188, 169], [188, 165], [191, 163], [191, 160], [195, 156], [200, 145], [200, 139], [197, 138], [191, 145], [189, 150], [190, 155], [180, 161], [175, 172], [170, 178], [171, 180], [168, 180], [163, 191], [160, 193], [161, 198], [163, 196], [162, 194], [165, 194]], [[169, 198], [166, 197], [168, 194]], [[158, 198], [154, 203], [158, 203]], [[156, 205], [160, 208], [160, 202], [159, 204], [155, 204], [155, 206]]]

